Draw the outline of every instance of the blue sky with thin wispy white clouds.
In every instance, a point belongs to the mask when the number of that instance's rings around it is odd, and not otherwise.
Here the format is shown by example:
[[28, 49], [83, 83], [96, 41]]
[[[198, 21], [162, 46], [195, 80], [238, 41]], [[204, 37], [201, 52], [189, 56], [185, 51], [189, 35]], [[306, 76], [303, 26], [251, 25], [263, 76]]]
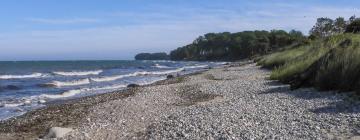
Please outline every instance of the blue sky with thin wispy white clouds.
[[300, 30], [360, 0], [1, 0], [0, 61], [131, 60], [208, 32]]

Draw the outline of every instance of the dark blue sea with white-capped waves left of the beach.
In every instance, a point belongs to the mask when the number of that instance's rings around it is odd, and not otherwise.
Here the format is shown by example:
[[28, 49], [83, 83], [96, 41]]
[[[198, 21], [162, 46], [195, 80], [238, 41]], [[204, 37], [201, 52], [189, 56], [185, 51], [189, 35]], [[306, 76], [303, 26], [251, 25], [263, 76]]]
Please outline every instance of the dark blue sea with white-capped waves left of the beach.
[[222, 62], [3, 61], [0, 120], [45, 107], [48, 102], [103, 94], [128, 84], [147, 85], [169, 74], [184, 75]]

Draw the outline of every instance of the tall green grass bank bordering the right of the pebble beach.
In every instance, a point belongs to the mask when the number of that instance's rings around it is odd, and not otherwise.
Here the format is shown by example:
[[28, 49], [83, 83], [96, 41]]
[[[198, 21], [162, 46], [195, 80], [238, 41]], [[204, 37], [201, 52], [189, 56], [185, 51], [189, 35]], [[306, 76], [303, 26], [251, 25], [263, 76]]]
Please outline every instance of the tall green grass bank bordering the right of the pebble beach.
[[264, 56], [258, 64], [273, 68], [272, 80], [305, 81], [322, 90], [360, 91], [360, 35], [316, 40]]

